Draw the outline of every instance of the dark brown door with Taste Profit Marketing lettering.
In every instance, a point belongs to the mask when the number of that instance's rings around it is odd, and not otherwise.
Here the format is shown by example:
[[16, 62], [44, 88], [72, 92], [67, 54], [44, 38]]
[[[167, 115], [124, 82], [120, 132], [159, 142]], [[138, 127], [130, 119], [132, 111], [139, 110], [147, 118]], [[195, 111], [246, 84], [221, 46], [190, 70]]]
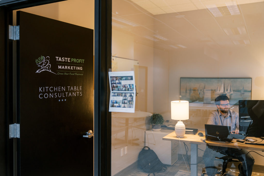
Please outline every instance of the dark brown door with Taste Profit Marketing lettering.
[[93, 30], [17, 12], [18, 174], [92, 175]]

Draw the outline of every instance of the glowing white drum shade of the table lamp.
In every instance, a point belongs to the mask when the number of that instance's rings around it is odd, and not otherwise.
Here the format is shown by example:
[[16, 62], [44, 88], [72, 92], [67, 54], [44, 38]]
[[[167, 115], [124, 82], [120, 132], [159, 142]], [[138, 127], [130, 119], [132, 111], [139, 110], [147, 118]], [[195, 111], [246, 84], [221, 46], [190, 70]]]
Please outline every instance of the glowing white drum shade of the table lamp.
[[173, 120], [189, 119], [189, 102], [184, 100], [172, 101], [171, 119]]

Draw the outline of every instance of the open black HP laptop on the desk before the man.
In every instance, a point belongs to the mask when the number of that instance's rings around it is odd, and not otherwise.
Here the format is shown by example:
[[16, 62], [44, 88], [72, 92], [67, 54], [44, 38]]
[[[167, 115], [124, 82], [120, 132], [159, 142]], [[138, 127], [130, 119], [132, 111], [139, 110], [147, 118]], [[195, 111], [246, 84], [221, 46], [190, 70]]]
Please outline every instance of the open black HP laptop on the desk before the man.
[[231, 127], [205, 124], [205, 139], [218, 142], [231, 142]]

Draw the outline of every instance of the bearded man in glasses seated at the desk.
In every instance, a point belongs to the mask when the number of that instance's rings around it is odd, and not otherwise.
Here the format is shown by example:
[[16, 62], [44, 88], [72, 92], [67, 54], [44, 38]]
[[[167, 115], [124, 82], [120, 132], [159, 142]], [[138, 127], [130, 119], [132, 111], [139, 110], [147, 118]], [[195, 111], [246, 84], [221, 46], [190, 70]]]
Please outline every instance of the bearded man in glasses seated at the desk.
[[[211, 112], [207, 124], [210, 125], [225, 125], [231, 126], [231, 131], [235, 134], [239, 133], [239, 121], [238, 113], [230, 110], [229, 98], [225, 95], [216, 97], [215, 104], [217, 110]], [[213, 149], [213, 150], [212, 150]], [[245, 149], [227, 148], [221, 146], [209, 146], [206, 148], [203, 159], [205, 166], [214, 166], [215, 156], [222, 157], [224, 155], [233, 156], [242, 162], [242, 166], [239, 165], [240, 175], [251, 175], [254, 164], [254, 158]], [[214, 175], [216, 169], [206, 169], [208, 175]], [[243, 172], [243, 173], [242, 173]]]

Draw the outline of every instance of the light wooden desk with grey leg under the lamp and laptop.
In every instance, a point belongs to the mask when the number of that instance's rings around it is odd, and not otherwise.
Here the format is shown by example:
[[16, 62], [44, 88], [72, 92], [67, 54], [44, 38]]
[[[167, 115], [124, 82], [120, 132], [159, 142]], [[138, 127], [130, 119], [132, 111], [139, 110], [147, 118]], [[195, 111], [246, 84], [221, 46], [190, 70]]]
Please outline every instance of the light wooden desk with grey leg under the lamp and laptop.
[[[198, 133], [201, 132], [204, 136], [198, 136]], [[260, 142], [262, 139], [257, 137], [247, 137], [246, 139], [256, 139], [257, 142]], [[191, 176], [197, 176], [197, 154], [198, 154], [198, 145], [203, 144], [205, 145], [205, 131], [198, 131], [196, 135], [187, 135], [185, 134], [182, 138], [177, 138], [175, 132], [171, 132], [167, 136], [164, 136], [162, 140], [167, 141], [181, 141], [191, 144]], [[226, 142], [215, 142], [215, 141], [206, 141], [206, 143], [214, 146], [222, 146], [222, 147], [230, 147], [230, 148], [240, 148], [240, 149], [247, 149], [247, 150], [259, 150], [264, 151], [264, 146], [262, 145], [250, 145], [250, 144], [238, 144], [236, 142], [237, 139], [233, 139], [232, 142], [234, 143], [226, 143]], [[264, 144], [264, 141], [261, 142]]]

